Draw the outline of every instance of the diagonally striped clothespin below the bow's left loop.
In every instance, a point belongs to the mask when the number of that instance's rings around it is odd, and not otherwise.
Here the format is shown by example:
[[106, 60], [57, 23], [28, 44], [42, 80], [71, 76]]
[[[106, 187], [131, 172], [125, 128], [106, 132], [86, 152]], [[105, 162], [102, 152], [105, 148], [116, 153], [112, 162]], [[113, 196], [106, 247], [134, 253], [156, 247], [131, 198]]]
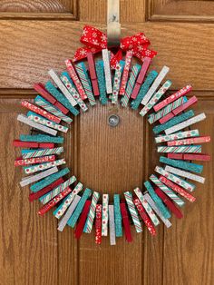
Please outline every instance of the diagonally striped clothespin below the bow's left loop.
[[95, 105], [95, 98], [92, 93], [92, 84], [90, 82], [89, 76], [84, 63], [76, 64], [76, 72], [80, 77], [80, 80], [83, 84], [84, 91], [88, 97], [89, 103], [91, 106]]

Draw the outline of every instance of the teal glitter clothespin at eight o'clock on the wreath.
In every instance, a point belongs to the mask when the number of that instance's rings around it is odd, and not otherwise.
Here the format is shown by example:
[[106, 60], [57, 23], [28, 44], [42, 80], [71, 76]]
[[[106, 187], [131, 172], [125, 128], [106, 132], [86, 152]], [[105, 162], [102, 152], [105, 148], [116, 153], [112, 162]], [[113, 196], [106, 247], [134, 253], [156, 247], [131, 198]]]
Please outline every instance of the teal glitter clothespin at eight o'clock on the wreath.
[[38, 192], [41, 189], [43, 189], [44, 187], [50, 185], [51, 183], [55, 182], [57, 179], [59, 179], [60, 177], [63, 177], [64, 175], [66, 175], [69, 172], [70, 172], [69, 168], [67, 168], [67, 167], [63, 168], [62, 171], [53, 173], [52, 175], [41, 180], [40, 182], [34, 183], [33, 185], [31, 185], [30, 189], [33, 192]]

